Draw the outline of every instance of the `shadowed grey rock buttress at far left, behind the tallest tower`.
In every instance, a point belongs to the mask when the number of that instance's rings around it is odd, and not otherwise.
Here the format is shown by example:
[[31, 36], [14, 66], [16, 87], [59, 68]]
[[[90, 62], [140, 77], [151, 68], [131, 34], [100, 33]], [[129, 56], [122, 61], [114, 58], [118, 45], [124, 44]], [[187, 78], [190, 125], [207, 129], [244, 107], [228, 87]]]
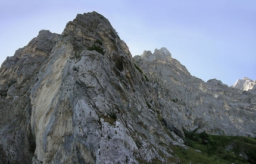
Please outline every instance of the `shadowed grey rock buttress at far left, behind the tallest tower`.
[[[40, 31], [38, 37], [7, 57], [0, 69], [0, 163], [31, 163], [35, 136], [30, 126], [30, 88], [42, 63], [48, 59], [57, 34]], [[21, 153], [22, 152], [22, 153]]]

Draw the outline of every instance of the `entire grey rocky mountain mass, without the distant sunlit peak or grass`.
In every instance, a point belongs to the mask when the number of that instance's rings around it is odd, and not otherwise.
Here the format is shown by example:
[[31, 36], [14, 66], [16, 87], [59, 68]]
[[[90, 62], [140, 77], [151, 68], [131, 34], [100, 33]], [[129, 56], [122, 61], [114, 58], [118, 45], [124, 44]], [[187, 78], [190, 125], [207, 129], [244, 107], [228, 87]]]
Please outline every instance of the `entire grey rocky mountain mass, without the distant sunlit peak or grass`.
[[177, 163], [185, 130], [256, 136], [254, 94], [191, 76], [166, 48], [132, 57], [97, 12], [7, 57], [0, 95], [0, 163]]

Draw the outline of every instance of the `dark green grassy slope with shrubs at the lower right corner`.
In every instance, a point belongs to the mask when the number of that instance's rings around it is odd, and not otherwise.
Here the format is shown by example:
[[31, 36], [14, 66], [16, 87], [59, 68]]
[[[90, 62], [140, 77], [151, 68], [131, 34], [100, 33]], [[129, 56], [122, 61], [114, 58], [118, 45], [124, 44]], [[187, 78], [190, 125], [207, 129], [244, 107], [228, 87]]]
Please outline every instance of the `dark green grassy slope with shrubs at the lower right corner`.
[[[170, 147], [180, 163], [255, 163], [256, 139], [239, 136], [214, 136], [185, 131], [186, 145]], [[207, 142], [205, 142], [207, 140]], [[201, 153], [196, 152], [200, 150]], [[243, 155], [243, 156], [241, 156]], [[246, 160], [244, 156], [247, 156]]]

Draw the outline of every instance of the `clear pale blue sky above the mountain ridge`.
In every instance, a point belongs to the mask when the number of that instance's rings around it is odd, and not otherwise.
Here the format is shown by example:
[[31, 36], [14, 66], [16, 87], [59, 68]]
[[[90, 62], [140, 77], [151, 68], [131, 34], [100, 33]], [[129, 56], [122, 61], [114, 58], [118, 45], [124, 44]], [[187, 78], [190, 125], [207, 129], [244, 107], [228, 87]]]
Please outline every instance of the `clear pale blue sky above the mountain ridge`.
[[77, 14], [104, 15], [133, 56], [166, 47], [192, 76], [256, 79], [256, 1], [8, 0], [0, 2], [0, 63], [40, 30], [61, 34]]

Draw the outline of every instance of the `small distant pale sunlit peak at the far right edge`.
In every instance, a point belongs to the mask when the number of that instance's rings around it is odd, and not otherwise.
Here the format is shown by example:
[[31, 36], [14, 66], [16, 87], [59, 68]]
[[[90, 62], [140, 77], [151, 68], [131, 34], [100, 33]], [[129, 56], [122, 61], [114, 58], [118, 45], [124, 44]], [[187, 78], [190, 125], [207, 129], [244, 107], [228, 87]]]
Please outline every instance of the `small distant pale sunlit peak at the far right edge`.
[[256, 80], [252, 81], [249, 78], [238, 79], [232, 86], [233, 88], [241, 89], [242, 91], [249, 91], [256, 94]]

